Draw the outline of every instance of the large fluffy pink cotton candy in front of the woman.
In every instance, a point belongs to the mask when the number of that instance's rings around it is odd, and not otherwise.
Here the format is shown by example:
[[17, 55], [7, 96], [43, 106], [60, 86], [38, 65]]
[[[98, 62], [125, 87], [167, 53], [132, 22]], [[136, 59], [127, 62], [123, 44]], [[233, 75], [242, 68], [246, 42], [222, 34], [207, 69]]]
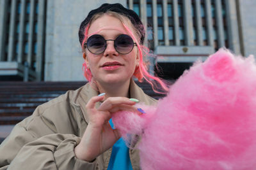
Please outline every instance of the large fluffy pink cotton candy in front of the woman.
[[157, 106], [140, 107], [145, 115], [118, 112], [113, 122], [123, 136], [141, 134], [142, 169], [256, 169], [253, 57], [221, 49], [186, 71]]

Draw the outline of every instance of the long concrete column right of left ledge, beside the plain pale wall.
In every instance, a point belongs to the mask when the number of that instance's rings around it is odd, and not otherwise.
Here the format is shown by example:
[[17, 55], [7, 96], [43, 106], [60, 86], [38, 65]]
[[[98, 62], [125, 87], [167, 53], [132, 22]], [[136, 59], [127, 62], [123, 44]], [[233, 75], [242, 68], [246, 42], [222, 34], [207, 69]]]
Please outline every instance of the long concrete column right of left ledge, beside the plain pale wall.
[[38, 1], [38, 31], [37, 31], [37, 52], [36, 52], [36, 81], [40, 81], [43, 71], [44, 41], [45, 41], [45, 0]]

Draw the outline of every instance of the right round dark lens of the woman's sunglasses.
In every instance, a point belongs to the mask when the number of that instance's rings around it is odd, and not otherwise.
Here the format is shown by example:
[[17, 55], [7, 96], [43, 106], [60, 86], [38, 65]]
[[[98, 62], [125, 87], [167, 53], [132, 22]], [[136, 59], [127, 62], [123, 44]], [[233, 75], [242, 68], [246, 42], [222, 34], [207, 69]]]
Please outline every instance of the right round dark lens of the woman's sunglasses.
[[133, 40], [130, 36], [122, 34], [115, 40], [115, 48], [118, 53], [129, 53], [133, 48]]

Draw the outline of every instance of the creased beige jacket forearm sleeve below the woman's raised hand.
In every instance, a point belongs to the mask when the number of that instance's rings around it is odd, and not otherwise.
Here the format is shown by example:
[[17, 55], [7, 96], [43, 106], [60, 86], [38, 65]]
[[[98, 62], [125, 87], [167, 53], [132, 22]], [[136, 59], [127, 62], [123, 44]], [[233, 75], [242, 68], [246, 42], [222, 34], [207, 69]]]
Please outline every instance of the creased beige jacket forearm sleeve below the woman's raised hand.
[[80, 138], [73, 134], [50, 134], [24, 145], [8, 169], [96, 169], [97, 163], [76, 158]]

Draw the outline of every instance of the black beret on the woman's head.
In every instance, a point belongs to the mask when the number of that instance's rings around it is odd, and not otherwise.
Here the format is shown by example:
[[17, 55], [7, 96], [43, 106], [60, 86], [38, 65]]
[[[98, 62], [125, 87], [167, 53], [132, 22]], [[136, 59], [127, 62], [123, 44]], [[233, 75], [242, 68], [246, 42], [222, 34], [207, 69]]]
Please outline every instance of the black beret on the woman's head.
[[138, 35], [140, 36], [140, 44], [143, 45], [144, 38], [145, 38], [145, 28], [143, 27], [140, 17], [134, 11], [124, 8], [124, 6], [122, 6], [122, 4], [105, 3], [105, 4], [102, 4], [99, 8], [96, 8], [95, 10], [90, 11], [90, 13], [87, 15], [87, 17], [81, 23], [79, 32], [78, 32], [79, 42], [80, 42], [81, 46], [83, 46], [82, 43], [84, 40], [84, 31], [85, 31], [87, 25], [90, 23], [90, 20], [92, 19], [92, 17], [94, 15], [96, 15], [97, 13], [106, 13], [108, 11], [113, 11], [113, 12], [119, 13], [120, 15], [124, 15], [125, 17], [129, 18], [129, 20], [131, 20], [132, 25], [138, 32]]

